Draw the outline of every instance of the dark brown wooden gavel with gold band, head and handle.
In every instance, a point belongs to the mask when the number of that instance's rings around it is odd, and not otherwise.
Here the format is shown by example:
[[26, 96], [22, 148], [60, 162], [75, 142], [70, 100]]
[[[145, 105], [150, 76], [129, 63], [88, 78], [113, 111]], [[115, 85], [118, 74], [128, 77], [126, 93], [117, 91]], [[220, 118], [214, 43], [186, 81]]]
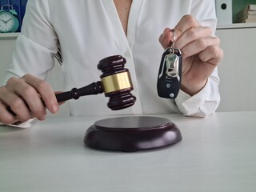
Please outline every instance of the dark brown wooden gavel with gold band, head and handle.
[[[57, 101], [65, 102], [70, 99], [78, 99], [81, 96], [102, 94], [104, 92], [105, 96], [110, 98], [107, 106], [111, 110], [122, 110], [133, 106], [136, 97], [130, 93], [131, 90], [134, 90], [134, 87], [129, 70], [124, 68], [125, 64], [126, 58], [121, 55], [103, 58], [97, 66], [98, 70], [102, 71], [101, 81], [92, 82], [79, 89], [73, 88], [70, 91], [55, 94]], [[14, 114], [10, 107], [7, 107], [7, 110]]]

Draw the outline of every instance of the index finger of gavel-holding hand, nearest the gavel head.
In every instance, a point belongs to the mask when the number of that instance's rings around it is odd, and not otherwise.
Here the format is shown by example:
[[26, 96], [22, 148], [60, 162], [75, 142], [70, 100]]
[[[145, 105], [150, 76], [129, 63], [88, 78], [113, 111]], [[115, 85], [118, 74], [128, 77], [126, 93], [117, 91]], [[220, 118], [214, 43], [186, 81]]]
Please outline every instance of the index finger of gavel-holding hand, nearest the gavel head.
[[57, 98], [55, 97], [54, 91], [52, 90], [51, 86], [47, 82], [42, 81], [39, 78], [35, 78], [30, 74], [25, 75], [23, 79], [30, 86], [33, 86], [35, 90], [37, 90], [38, 94], [40, 94], [43, 102], [45, 103], [47, 109], [50, 110], [52, 114], [58, 112]]

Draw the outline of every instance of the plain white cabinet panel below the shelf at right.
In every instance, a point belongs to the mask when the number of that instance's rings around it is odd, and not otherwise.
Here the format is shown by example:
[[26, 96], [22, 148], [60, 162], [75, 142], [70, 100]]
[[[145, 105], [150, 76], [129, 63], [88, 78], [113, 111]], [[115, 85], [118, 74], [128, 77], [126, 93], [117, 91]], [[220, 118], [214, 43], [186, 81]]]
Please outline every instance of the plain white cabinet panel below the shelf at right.
[[217, 30], [224, 58], [218, 66], [218, 111], [256, 110], [256, 27]]

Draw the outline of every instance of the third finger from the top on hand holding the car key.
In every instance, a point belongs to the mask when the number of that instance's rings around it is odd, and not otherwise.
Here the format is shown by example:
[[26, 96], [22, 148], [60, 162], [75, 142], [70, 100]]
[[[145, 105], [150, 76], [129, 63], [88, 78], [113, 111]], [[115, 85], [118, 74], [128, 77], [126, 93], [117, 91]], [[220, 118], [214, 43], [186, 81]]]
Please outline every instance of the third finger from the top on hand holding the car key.
[[[188, 58], [192, 55], [200, 54], [209, 46], [219, 46], [219, 39], [214, 37], [198, 38], [182, 48], [182, 56], [183, 58]], [[206, 52], [203, 53], [206, 54]], [[204, 54], [202, 54], [201, 56], [203, 57]], [[208, 55], [209, 54], [207, 54], [207, 56]], [[202, 61], [206, 61], [206, 58], [204, 58]]]

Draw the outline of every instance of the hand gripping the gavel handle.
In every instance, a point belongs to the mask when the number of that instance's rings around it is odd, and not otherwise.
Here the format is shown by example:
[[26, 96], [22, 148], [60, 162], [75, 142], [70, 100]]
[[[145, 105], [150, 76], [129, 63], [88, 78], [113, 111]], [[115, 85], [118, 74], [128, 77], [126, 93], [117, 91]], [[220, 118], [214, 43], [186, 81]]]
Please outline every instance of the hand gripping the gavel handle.
[[[46, 106], [44, 106], [43, 102]], [[14, 112], [10, 113], [7, 107]], [[12, 124], [26, 122], [30, 118], [44, 120], [46, 109], [58, 112], [58, 102], [50, 85], [30, 74], [22, 78], [10, 78], [0, 87], [0, 122]]]

